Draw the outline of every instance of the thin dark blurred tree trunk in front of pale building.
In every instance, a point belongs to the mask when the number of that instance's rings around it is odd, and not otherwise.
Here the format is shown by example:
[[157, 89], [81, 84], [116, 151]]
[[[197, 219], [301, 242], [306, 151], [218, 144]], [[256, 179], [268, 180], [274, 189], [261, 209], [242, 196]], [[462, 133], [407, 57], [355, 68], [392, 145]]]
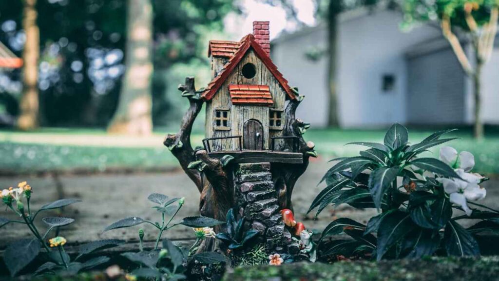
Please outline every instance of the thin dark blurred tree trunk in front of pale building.
[[327, 83], [329, 89], [329, 113], [327, 123], [330, 127], [338, 126], [338, 94], [337, 94], [337, 41], [338, 41], [338, 16], [341, 12], [341, 1], [330, 0], [328, 6], [328, 73]]

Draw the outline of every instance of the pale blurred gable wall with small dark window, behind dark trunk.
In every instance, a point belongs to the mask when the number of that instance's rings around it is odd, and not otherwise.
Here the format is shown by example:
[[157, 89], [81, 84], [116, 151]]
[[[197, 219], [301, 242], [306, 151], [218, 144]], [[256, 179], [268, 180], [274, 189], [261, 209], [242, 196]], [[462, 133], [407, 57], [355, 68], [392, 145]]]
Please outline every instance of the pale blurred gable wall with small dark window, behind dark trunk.
[[[340, 20], [338, 100], [343, 127], [381, 126], [407, 121], [407, 61], [405, 52], [418, 42], [441, 36], [439, 28], [422, 25], [402, 32], [402, 15], [380, 9]], [[305, 52], [326, 49], [326, 29], [319, 26], [273, 43], [276, 65], [306, 96], [297, 115], [314, 126], [327, 121], [327, 57], [310, 61]], [[383, 75], [395, 76], [392, 90], [383, 91]]]

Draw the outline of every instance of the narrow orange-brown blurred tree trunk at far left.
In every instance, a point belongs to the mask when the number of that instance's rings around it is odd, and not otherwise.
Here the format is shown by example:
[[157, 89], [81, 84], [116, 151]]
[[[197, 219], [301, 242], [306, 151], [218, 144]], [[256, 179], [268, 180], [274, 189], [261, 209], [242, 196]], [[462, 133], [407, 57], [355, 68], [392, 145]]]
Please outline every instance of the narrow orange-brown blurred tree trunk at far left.
[[40, 56], [40, 33], [36, 24], [36, 0], [24, 0], [22, 28], [26, 43], [22, 51], [24, 61], [22, 96], [17, 127], [29, 130], [38, 126], [38, 58]]

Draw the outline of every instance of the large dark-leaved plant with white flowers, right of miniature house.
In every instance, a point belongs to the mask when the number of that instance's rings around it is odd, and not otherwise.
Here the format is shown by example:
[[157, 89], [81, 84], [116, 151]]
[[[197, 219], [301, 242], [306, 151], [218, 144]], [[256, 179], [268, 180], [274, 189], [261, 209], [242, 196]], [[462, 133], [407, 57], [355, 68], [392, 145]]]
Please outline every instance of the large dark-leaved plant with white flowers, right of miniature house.
[[[355, 208], [376, 208], [379, 214], [367, 225], [346, 217], [331, 222], [319, 239], [320, 255], [372, 255], [378, 260], [436, 252], [479, 255], [480, 234], [499, 229], [499, 211], [475, 202], [485, 197], [479, 184], [487, 178], [470, 173], [475, 159], [467, 151], [458, 154], [446, 146], [440, 150], [440, 160], [420, 157], [428, 148], [454, 139], [441, 138], [451, 131], [433, 133], [410, 145], [407, 129], [394, 124], [384, 143], [349, 143], [370, 148], [359, 156], [334, 159], [339, 162], [320, 181], [327, 186], [308, 212], [317, 208], [318, 214], [327, 205], [347, 203]], [[453, 209], [466, 214], [452, 217]], [[464, 228], [460, 219], [480, 221]], [[326, 239], [341, 233], [350, 238]]]

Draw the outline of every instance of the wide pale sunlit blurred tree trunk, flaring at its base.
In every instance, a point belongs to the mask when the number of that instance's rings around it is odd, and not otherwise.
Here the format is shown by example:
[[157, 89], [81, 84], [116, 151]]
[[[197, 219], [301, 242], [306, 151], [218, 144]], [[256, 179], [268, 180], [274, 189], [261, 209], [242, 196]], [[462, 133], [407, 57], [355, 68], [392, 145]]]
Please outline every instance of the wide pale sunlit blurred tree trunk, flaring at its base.
[[108, 132], [147, 135], [152, 132], [152, 4], [128, 0], [126, 71]]

